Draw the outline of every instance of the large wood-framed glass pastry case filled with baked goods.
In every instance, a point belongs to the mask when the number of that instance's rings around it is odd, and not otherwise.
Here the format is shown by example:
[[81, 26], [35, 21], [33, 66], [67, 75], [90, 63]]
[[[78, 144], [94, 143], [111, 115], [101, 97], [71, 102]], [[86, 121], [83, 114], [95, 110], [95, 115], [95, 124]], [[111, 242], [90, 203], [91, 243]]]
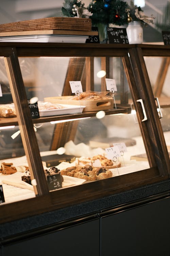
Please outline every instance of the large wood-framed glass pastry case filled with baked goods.
[[[135, 46], [0, 43], [0, 56], [0, 207], [7, 220], [168, 178]], [[70, 82], [82, 91], [72, 92]]]

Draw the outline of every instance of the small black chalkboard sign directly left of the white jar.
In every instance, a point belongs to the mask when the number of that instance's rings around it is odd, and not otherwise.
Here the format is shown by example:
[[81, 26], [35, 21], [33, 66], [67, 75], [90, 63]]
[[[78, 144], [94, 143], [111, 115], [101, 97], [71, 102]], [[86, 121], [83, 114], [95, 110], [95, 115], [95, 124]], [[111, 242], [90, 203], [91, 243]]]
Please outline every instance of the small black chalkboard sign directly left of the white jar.
[[107, 28], [109, 44], [129, 44], [125, 28]]

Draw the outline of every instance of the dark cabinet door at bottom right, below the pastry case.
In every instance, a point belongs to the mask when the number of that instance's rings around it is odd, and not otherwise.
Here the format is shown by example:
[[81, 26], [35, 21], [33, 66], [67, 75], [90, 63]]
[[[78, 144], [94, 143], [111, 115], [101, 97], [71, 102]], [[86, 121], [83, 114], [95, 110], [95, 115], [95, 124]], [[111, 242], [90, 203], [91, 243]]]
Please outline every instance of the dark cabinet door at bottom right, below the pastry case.
[[101, 218], [101, 255], [169, 256], [170, 197]]

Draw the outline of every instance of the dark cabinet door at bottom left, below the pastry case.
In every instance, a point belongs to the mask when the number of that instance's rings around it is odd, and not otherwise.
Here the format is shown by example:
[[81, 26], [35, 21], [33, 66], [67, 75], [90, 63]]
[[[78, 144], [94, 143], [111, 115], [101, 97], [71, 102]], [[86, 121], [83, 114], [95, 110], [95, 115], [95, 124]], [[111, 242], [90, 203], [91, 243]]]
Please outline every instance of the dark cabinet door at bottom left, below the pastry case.
[[99, 219], [2, 247], [2, 256], [99, 256]]

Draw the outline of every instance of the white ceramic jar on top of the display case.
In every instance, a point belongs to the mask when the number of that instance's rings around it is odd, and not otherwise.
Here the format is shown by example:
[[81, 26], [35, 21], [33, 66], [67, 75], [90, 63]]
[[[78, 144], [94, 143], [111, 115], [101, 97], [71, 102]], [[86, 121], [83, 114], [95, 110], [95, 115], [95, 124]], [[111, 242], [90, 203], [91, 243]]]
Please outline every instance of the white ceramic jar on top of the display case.
[[143, 42], [143, 28], [140, 22], [130, 22], [126, 28], [126, 32], [130, 44], [141, 44]]

